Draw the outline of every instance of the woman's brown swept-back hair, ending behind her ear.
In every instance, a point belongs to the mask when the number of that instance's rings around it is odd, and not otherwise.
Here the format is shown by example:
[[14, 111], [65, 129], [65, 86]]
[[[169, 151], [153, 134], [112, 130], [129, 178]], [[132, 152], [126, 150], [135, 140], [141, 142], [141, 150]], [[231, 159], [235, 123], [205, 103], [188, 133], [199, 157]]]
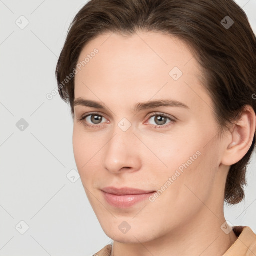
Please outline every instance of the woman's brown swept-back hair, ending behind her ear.
[[[234, 1], [91, 0], [70, 24], [56, 66], [59, 94], [70, 104], [73, 118], [74, 78], [66, 84], [63, 81], [76, 67], [82, 48], [102, 33], [132, 35], [138, 29], [177, 36], [191, 47], [203, 70], [203, 84], [213, 100], [220, 131], [239, 117], [245, 105], [256, 112], [252, 98], [256, 38], [246, 14]], [[224, 195], [229, 204], [244, 197], [245, 172], [254, 145], [255, 134], [248, 152], [230, 167]]]

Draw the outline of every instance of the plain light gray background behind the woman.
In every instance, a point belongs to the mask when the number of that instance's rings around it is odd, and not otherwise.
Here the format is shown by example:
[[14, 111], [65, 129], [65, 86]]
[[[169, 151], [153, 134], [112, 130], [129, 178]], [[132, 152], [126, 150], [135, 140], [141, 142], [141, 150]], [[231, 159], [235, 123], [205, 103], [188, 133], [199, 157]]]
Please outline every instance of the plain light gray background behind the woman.
[[[54, 71], [68, 26], [86, 2], [0, 0], [0, 256], [91, 255], [111, 242], [79, 176], [68, 179], [77, 173], [69, 106], [58, 94], [46, 98], [57, 86]], [[256, 0], [237, 3], [256, 32]], [[29, 21], [23, 29], [21, 15]], [[21, 118], [28, 123], [23, 131], [16, 126]], [[254, 232], [255, 164], [253, 155], [246, 200], [225, 206], [227, 220]], [[24, 234], [20, 221], [29, 226]]]

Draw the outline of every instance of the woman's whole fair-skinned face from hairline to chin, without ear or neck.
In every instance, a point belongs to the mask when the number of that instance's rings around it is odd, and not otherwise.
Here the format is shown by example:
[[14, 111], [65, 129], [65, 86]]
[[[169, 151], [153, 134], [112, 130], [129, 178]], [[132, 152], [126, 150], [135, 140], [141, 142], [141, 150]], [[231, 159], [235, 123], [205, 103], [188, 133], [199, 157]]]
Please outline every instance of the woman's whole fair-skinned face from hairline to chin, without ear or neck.
[[78, 63], [86, 57], [75, 75], [73, 150], [104, 232], [147, 242], [212, 218], [208, 208], [223, 203], [221, 141], [189, 48], [160, 32], [106, 33]]

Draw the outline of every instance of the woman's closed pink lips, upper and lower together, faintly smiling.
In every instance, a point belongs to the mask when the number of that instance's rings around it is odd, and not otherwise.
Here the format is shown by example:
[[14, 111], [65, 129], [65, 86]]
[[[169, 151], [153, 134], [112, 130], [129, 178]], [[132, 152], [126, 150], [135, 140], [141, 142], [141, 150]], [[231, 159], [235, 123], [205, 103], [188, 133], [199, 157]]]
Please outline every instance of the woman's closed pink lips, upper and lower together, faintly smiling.
[[128, 208], [147, 199], [156, 191], [141, 190], [136, 188], [105, 187], [101, 189], [105, 200], [113, 207]]

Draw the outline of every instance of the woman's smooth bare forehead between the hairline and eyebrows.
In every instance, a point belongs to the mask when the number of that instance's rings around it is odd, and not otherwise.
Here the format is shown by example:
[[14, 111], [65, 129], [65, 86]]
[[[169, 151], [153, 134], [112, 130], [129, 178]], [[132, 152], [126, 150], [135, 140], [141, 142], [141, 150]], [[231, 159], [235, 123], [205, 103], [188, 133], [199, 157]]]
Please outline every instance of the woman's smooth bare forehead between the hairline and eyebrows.
[[102, 34], [83, 47], [77, 63], [81, 65], [75, 75], [75, 98], [98, 100], [107, 92], [109, 102], [118, 104], [169, 94], [189, 104], [198, 97], [190, 86], [205, 94], [200, 91], [200, 67], [193, 52], [182, 40], [161, 32]]

